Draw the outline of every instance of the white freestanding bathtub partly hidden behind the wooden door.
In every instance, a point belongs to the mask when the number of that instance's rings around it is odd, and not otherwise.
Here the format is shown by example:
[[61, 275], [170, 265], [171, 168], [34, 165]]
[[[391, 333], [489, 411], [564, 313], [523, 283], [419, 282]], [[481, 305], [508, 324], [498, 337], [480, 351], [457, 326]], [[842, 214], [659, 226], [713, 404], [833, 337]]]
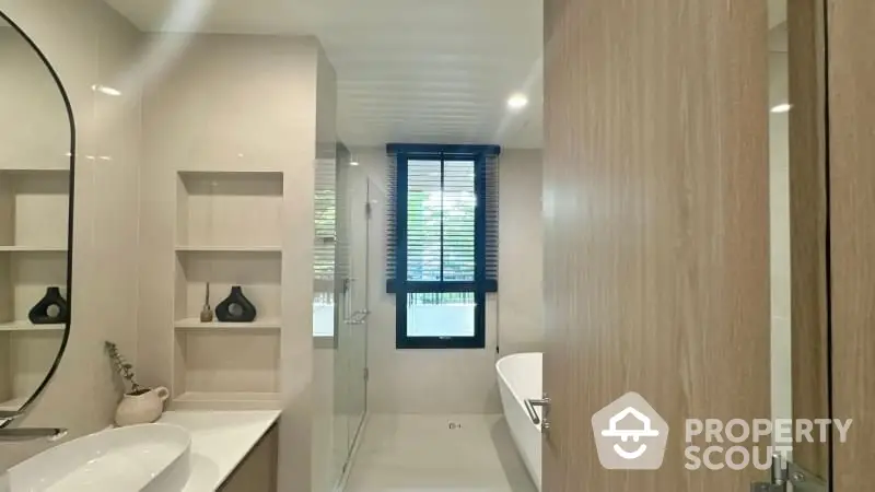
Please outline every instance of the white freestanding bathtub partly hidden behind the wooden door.
[[[540, 425], [532, 423], [525, 408], [526, 399], [542, 396], [544, 354], [518, 353], [508, 355], [495, 363], [501, 390], [504, 419], [511, 427], [513, 442], [528, 475], [540, 491]], [[540, 409], [536, 409], [540, 415]]]

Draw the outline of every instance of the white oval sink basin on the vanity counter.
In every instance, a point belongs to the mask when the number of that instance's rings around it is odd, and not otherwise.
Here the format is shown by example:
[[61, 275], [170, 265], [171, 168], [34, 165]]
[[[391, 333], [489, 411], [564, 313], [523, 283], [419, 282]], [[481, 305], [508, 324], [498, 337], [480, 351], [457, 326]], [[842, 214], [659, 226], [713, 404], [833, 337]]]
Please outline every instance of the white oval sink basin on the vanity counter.
[[191, 436], [143, 424], [86, 435], [45, 450], [0, 478], [0, 492], [174, 492], [188, 480]]

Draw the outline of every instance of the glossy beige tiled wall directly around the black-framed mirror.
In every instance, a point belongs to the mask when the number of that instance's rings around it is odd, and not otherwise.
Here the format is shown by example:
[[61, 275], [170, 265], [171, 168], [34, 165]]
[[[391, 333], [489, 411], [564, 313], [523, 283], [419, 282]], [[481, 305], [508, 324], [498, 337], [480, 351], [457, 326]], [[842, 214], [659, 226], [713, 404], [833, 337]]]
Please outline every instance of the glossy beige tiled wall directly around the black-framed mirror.
[[[72, 332], [59, 374], [26, 425], [59, 425], [77, 436], [109, 424], [119, 394], [103, 342], [136, 361], [140, 96], [125, 78], [140, 35], [98, 0], [0, 0], [57, 69], [77, 119]], [[92, 91], [119, 89], [112, 97]], [[45, 448], [0, 445], [0, 469]]]

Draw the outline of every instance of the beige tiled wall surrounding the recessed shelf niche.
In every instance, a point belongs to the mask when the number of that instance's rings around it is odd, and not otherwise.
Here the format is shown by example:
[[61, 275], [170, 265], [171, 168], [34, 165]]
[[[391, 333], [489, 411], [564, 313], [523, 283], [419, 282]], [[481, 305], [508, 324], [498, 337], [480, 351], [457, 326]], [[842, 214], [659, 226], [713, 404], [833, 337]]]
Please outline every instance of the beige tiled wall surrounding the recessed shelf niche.
[[[185, 51], [162, 67], [143, 98], [140, 304], [150, 309], [140, 311], [138, 339], [144, 379], [176, 388], [196, 383], [210, 390], [276, 387], [283, 409], [280, 489], [308, 491], [311, 447], [318, 438], [312, 431], [314, 164], [332, 157], [320, 150], [334, 149], [334, 72], [313, 38], [162, 35], [152, 37], [151, 44], [185, 46]], [[267, 338], [252, 339], [249, 343], [259, 350], [237, 359], [228, 371], [222, 370], [228, 365], [223, 358], [234, 347], [228, 339], [219, 340], [225, 335], [208, 336], [200, 340], [208, 342], [200, 349], [188, 337], [186, 353], [174, 350], [177, 187], [173, 184], [179, 171], [283, 173], [281, 337], [269, 336], [273, 347]], [[272, 365], [262, 360], [270, 356]], [[196, 367], [188, 367], [192, 362]], [[195, 371], [174, 374], [174, 367]], [[217, 378], [220, 370], [222, 380]]]

